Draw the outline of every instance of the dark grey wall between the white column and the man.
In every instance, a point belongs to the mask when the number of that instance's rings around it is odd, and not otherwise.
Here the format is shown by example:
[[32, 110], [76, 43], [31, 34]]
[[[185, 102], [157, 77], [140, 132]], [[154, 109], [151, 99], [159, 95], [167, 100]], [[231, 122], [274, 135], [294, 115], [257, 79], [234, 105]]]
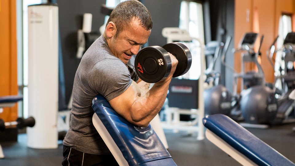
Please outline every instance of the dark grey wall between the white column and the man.
[[65, 74], [65, 100], [68, 103], [72, 93], [74, 77], [80, 59], [77, 53], [77, 30], [82, 29], [83, 14], [92, 14], [92, 32], [99, 32], [104, 24], [104, 15], [100, 14], [100, 5], [105, 0], [57, 0], [59, 9], [59, 28]]

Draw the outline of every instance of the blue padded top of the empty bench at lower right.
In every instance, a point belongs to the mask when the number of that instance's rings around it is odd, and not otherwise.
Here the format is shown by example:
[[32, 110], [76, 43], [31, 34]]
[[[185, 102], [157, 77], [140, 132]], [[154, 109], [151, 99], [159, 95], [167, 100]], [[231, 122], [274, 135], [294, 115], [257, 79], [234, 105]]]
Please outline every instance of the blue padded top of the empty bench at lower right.
[[203, 124], [207, 129], [258, 165], [295, 165], [226, 115], [206, 116], [203, 118]]

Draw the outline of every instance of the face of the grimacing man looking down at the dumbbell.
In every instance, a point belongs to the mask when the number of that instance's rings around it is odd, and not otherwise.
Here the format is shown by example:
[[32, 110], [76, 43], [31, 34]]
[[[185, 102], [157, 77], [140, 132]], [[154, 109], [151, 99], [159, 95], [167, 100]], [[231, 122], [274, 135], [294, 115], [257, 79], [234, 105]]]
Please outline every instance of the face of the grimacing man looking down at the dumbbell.
[[148, 41], [151, 30], [145, 30], [140, 26], [138, 19], [133, 19], [129, 27], [124, 27], [117, 38], [112, 38], [109, 47], [112, 53], [125, 64], [133, 54], [137, 54], [141, 45]]

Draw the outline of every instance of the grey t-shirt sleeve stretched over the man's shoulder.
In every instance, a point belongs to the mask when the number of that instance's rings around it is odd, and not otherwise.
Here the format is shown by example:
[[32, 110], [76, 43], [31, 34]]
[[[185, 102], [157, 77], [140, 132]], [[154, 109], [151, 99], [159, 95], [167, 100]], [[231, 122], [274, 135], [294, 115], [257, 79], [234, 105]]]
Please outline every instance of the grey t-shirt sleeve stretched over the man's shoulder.
[[122, 94], [132, 83], [127, 66], [117, 59], [104, 59], [96, 63], [88, 76], [93, 91], [111, 100]]

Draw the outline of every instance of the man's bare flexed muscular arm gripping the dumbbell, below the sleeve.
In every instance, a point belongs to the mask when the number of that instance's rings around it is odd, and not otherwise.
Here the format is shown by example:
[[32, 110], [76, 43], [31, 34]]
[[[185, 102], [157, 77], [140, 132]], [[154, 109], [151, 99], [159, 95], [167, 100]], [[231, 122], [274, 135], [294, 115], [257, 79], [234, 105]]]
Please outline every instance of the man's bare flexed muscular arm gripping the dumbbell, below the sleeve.
[[148, 83], [144, 81], [132, 82], [124, 93], [110, 100], [112, 108], [132, 124], [145, 127], [159, 113], [165, 99], [172, 75], [178, 61], [172, 60], [169, 76], [148, 90]]

